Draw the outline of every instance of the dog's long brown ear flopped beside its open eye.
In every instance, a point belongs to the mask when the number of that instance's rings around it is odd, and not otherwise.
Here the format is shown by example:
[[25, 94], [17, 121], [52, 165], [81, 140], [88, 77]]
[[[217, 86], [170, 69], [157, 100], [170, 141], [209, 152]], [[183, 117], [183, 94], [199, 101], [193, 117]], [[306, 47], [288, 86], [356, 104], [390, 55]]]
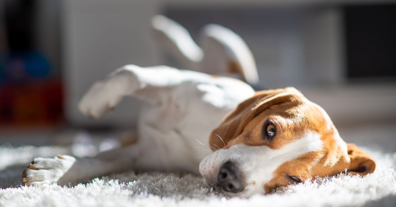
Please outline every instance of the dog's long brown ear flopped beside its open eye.
[[228, 142], [238, 137], [246, 125], [262, 111], [272, 105], [286, 103], [296, 96], [303, 95], [293, 87], [258, 91], [253, 97], [239, 104], [211, 132], [209, 146], [211, 146], [212, 150], [217, 150], [221, 146], [227, 146]]

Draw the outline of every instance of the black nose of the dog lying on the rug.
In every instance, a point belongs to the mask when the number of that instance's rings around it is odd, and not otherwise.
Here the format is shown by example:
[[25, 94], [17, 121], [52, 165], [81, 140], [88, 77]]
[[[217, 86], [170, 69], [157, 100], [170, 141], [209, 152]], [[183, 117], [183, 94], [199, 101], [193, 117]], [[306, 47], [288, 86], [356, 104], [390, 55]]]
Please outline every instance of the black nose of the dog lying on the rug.
[[226, 192], [238, 193], [244, 190], [244, 184], [238, 174], [236, 166], [228, 161], [220, 168], [219, 175], [217, 175], [218, 183], [216, 186], [220, 187]]

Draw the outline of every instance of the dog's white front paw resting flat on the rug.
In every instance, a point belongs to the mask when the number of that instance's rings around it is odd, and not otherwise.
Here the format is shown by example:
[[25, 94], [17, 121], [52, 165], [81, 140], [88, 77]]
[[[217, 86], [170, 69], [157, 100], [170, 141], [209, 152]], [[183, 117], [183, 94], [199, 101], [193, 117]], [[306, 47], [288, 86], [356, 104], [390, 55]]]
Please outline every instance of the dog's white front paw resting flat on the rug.
[[75, 161], [76, 158], [68, 155], [58, 155], [55, 158], [35, 158], [23, 171], [22, 180], [25, 186], [40, 186], [45, 183], [58, 182]]

